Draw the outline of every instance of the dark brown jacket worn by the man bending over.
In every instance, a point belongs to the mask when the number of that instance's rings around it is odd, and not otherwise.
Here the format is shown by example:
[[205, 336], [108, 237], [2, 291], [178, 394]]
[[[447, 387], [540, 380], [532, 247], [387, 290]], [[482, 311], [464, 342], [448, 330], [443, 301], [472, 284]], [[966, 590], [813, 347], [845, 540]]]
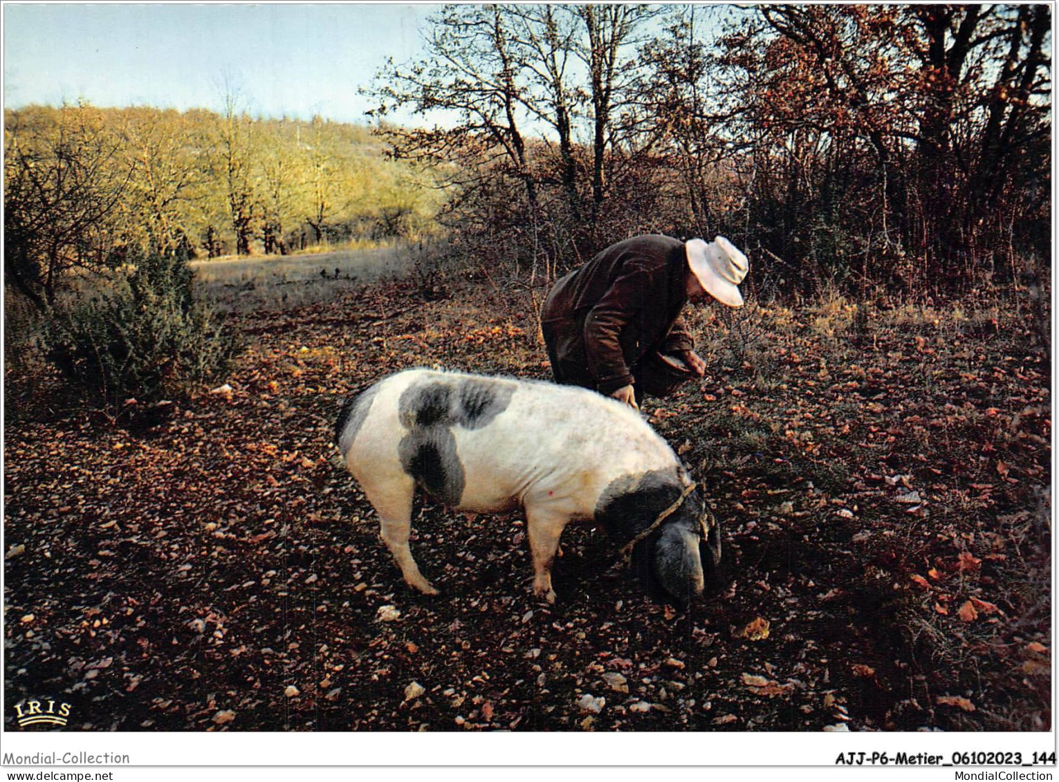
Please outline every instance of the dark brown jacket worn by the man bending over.
[[689, 273], [684, 242], [649, 235], [612, 244], [557, 281], [541, 311], [556, 380], [612, 394], [633, 383], [648, 351], [690, 350], [680, 317]]

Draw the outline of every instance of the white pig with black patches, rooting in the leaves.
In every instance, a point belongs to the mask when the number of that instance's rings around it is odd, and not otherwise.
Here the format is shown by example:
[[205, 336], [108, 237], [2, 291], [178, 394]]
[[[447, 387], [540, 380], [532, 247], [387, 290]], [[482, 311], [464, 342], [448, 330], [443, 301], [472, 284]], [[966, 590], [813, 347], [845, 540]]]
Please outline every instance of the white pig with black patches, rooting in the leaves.
[[427, 595], [437, 589], [408, 543], [417, 488], [463, 511], [521, 507], [533, 590], [550, 603], [572, 521], [627, 543], [648, 589], [681, 604], [702, 594], [703, 552], [708, 566], [720, 559], [717, 524], [677, 455], [636, 411], [592, 390], [408, 369], [346, 401], [335, 438], [405, 581]]

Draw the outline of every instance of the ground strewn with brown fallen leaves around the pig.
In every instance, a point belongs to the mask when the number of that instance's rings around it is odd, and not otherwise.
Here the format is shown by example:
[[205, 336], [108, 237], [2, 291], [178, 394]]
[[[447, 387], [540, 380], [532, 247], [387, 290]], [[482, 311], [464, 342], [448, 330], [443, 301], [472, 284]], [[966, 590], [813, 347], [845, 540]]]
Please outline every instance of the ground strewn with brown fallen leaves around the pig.
[[[89, 730], [1044, 730], [1047, 353], [995, 310], [693, 317], [711, 367], [645, 407], [725, 529], [704, 605], [618, 542], [420, 504], [408, 588], [335, 462], [357, 388], [410, 366], [548, 378], [532, 308], [383, 283], [233, 314], [214, 393], [114, 425], [8, 369], [8, 703]], [[12, 714], [5, 714], [11, 720]]]

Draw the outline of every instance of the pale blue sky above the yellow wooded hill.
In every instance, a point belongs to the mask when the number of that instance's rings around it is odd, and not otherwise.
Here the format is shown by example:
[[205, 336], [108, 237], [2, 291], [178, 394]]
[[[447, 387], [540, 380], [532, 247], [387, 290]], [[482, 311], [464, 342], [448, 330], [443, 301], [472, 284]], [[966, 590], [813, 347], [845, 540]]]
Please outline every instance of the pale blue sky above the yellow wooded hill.
[[3, 103], [218, 109], [228, 75], [251, 114], [365, 122], [358, 89], [438, 7], [5, 3]]

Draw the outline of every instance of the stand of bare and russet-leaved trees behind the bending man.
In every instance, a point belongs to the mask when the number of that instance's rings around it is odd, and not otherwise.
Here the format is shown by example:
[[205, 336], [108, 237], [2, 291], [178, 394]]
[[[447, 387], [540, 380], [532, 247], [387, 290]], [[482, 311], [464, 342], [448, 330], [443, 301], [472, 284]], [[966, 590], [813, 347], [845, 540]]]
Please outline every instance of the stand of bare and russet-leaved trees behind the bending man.
[[533, 281], [636, 233], [719, 233], [782, 293], [914, 298], [1046, 274], [1051, 18], [446, 6], [373, 94], [454, 119], [385, 138], [438, 166], [471, 262]]

